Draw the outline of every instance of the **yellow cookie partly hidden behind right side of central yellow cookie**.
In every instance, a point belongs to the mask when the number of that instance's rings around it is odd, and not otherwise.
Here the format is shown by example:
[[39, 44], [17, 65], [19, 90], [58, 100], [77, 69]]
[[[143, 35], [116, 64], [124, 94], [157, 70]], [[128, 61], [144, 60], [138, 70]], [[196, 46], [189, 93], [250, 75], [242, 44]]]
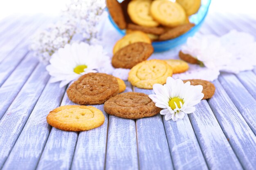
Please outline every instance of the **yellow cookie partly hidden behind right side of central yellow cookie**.
[[183, 60], [169, 59], [164, 61], [166, 61], [173, 68], [173, 74], [183, 73], [189, 69], [189, 64], [187, 64]]

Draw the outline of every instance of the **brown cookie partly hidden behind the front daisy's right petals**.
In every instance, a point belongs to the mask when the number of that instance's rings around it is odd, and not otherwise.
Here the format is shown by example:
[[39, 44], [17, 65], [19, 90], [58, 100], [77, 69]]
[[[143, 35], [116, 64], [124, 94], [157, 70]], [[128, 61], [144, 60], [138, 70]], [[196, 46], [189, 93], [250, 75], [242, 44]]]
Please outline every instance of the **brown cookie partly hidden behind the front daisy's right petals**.
[[196, 85], [202, 85], [203, 86], [203, 91], [204, 93], [204, 98], [203, 99], [209, 99], [211, 98], [214, 93], [215, 93], [215, 86], [211, 82], [208, 82], [206, 80], [202, 79], [187, 79], [183, 80], [184, 83], [190, 82], [191, 85], [196, 86]]

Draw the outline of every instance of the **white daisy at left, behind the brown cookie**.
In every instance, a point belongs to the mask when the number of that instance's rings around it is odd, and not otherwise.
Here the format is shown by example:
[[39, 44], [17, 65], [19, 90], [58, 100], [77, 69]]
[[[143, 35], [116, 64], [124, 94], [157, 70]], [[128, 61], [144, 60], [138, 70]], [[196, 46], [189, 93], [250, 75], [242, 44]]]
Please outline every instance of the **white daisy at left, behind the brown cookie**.
[[104, 53], [103, 47], [83, 42], [66, 44], [52, 55], [49, 62], [46, 69], [53, 77], [51, 82], [61, 81], [60, 87], [86, 73], [112, 72], [110, 57]]

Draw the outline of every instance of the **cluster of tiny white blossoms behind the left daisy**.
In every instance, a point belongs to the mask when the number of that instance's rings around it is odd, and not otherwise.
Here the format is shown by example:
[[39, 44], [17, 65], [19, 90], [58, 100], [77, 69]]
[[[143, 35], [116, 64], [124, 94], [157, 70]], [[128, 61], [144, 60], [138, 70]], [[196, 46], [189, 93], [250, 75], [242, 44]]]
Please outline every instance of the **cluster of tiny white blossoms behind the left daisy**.
[[36, 33], [31, 51], [47, 64], [51, 55], [65, 44], [95, 44], [100, 39], [98, 24], [105, 7], [105, 0], [71, 0], [56, 24]]

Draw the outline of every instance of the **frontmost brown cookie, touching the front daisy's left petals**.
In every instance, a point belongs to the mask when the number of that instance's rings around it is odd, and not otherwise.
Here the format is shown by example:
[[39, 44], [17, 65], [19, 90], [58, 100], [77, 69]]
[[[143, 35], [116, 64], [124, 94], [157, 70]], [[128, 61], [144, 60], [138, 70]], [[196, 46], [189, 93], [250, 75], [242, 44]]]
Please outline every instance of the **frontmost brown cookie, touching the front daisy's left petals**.
[[104, 110], [117, 117], [139, 119], [154, 116], [161, 108], [155, 106], [155, 103], [144, 93], [128, 92], [110, 98], [105, 102]]

